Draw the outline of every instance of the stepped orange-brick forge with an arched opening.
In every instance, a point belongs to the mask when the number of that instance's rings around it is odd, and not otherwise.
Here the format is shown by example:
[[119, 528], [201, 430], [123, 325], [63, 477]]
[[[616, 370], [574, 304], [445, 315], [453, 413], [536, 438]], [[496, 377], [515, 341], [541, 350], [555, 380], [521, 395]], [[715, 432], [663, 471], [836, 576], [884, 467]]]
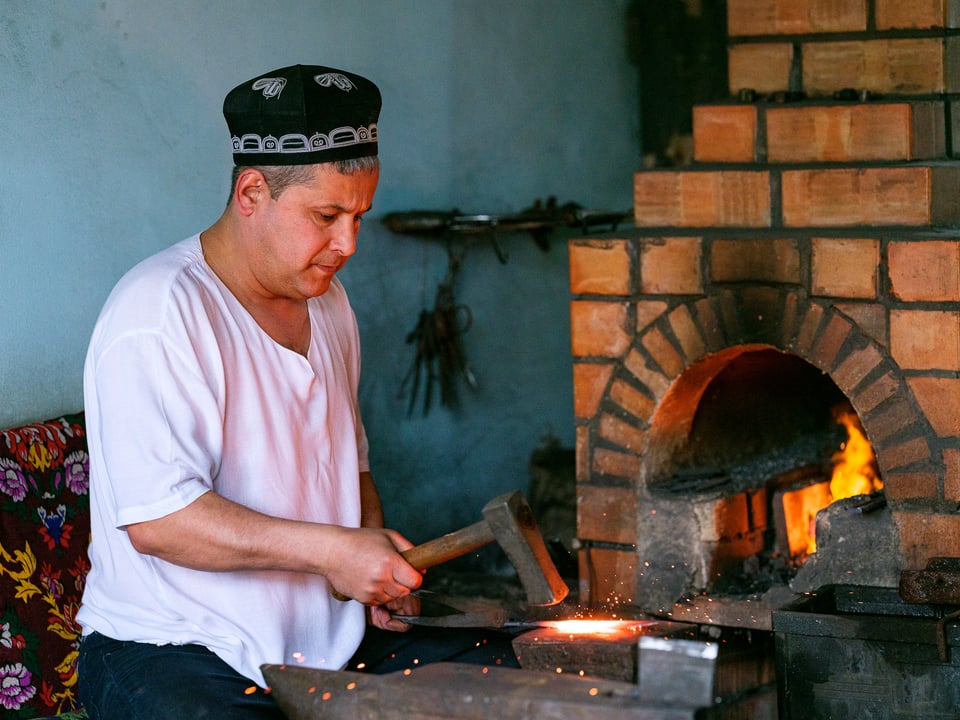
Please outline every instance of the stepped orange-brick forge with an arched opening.
[[958, 12], [728, 0], [731, 92], [759, 99], [695, 108], [693, 165], [634, 177], [636, 228], [571, 241], [585, 603], [669, 612], [757, 552], [805, 471], [724, 493], [705, 468], [811, 402], [857, 413], [899, 569], [960, 556]]

